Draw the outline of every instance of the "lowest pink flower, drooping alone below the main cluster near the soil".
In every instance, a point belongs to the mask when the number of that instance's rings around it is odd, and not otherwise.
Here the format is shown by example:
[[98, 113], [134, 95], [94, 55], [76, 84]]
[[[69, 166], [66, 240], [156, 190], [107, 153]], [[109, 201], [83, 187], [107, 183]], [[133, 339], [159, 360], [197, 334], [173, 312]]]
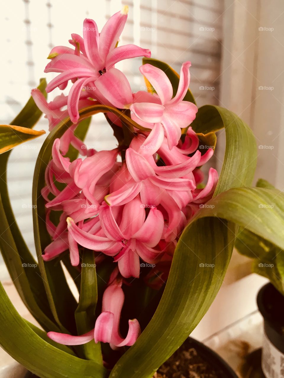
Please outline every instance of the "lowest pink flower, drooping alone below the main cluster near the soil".
[[95, 342], [109, 342], [112, 349], [125, 345], [133, 345], [140, 335], [140, 325], [137, 319], [129, 320], [126, 338], [123, 339], [120, 330], [120, 314], [124, 302], [122, 281], [115, 280], [103, 294], [103, 306], [100, 316], [95, 322], [95, 328], [81, 336], [67, 335], [66, 333], [48, 332], [47, 336], [64, 345], [81, 345], [95, 339]]

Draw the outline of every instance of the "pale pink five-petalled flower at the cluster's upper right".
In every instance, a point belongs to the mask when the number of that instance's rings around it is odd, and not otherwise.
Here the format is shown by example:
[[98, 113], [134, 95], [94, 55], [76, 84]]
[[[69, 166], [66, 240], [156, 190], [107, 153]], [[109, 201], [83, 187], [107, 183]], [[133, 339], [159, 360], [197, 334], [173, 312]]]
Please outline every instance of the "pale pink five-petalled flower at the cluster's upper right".
[[178, 90], [174, 98], [172, 84], [164, 71], [151, 64], [142, 65], [140, 72], [154, 87], [159, 101], [157, 102], [157, 97], [153, 96], [155, 101], [139, 101], [130, 106], [131, 118], [134, 121], [145, 122], [143, 125], [157, 122], [162, 124], [170, 150], [178, 144], [181, 129], [195, 119], [198, 110], [192, 102], [183, 101], [189, 87], [190, 65], [190, 62], [185, 62], [181, 66]]

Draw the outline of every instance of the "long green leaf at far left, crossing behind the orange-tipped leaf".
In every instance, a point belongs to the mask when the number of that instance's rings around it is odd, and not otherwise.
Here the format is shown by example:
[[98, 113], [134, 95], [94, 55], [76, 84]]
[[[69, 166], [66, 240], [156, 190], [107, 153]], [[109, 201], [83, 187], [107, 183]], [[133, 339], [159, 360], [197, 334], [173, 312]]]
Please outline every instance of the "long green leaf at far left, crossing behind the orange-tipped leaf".
[[[41, 80], [39, 90], [46, 97], [46, 81]], [[25, 125], [28, 129], [34, 126], [42, 112], [31, 97], [22, 111], [11, 122], [14, 125]], [[28, 310], [44, 329], [56, 327], [47, 302], [43, 281], [36, 261], [31, 255], [14, 217], [9, 200], [7, 186], [7, 163], [11, 151], [0, 155], [0, 248], [11, 279]]]

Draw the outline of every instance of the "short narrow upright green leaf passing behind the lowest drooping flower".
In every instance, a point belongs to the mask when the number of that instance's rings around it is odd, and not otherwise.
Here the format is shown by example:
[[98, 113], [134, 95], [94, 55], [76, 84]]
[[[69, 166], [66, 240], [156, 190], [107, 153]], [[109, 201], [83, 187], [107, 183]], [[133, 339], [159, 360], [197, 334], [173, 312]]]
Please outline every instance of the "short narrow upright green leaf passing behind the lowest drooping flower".
[[[87, 249], [83, 252], [81, 263], [81, 290], [79, 304], [75, 312], [78, 335], [89, 332], [95, 326], [95, 310], [98, 301], [97, 273], [93, 251]], [[95, 340], [82, 345], [84, 356], [98, 364], [103, 364], [100, 343]]]

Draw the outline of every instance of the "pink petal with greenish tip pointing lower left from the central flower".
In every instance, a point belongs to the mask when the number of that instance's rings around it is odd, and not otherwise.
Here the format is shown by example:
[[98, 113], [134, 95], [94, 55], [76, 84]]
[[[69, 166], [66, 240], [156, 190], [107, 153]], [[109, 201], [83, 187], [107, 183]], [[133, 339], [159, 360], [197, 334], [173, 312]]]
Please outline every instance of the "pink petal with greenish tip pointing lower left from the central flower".
[[124, 205], [125, 203], [133, 200], [133, 198], [139, 194], [141, 186], [141, 183], [136, 183], [133, 179], [131, 179], [117, 191], [106, 195], [105, 201], [109, 206]]

